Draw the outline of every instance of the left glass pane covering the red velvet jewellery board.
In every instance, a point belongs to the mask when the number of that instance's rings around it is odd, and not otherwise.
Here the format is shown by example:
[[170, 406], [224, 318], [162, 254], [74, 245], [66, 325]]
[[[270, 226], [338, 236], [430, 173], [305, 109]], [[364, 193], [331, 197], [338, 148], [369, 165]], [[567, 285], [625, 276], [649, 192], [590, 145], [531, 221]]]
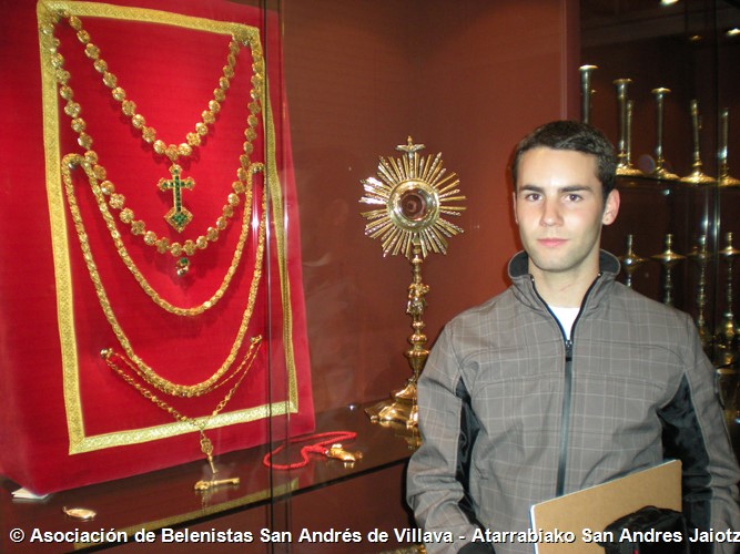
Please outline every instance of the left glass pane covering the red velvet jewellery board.
[[[67, 532], [93, 511], [119, 542], [178, 542], [254, 506], [235, 529], [256, 534], [287, 490], [262, 463], [273, 435], [313, 429], [307, 365], [284, 346], [306, 356], [275, 230], [282, 96], [263, 57], [277, 19], [225, 1], [40, 2], [39, 19], [2, 4], [3, 94], [24, 136], [3, 142], [2, 179], [30, 204], [2, 203], [3, 230], [24, 238], [0, 270], [0, 520]], [[266, 63], [278, 82], [280, 57]], [[12, 500], [20, 485], [42, 497]]]

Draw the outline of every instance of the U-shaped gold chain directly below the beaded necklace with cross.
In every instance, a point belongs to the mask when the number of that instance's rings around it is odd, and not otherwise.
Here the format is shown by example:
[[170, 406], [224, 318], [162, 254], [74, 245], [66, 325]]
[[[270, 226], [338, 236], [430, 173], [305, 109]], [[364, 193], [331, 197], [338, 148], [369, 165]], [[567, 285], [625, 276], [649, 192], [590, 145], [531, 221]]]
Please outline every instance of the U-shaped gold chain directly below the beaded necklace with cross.
[[[71, 174], [74, 167], [80, 166], [88, 176], [90, 187], [92, 188], [93, 195], [95, 196], [95, 199], [98, 202], [98, 207], [100, 208], [100, 212], [105, 222], [105, 226], [108, 227], [111, 238], [113, 239], [115, 252], [118, 252], [119, 256], [123, 260], [123, 264], [136, 279], [139, 286], [146, 294], [146, 296], [149, 296], [152, 299], [154, 304], [156, 304], [160, 308], [164, 309], [165, 311], [169, 311], [170, 314], [174, 314], [176, 316], [193, 317], [203, 314], [205, 310], [210, 308], [213, 308], [219, 302], [219, 300], [223, 298], [242, 259], [244, 245], [246, 243], [246, 238], [250, 230], [251, 212], [246, 209], [246, 206], [250, 206], [252, 204], [252, 189], [253, 189], [252, 175], [263, 171], [264, 168], [262, 164], [252, 164], [252, 165], [253, 167], [252, 171], [250, 172], [250, 179], [247, 182], [247, 186], [245, 187], [245, 207], [244, 207], [244, 213], [242, 214], [242, 230], [239, 240], [236, 243], [236, 248], [234, 249], [234, 256], [232, 258], [231, 265], [229, 266], [229, 269], [224, 275], [221, 286], [216, 289], [216, 291], [207, 300], [191, 308], [174, 306], [164, 298], [162, 298], [162, 296], [156, 290], [154, 290], [154, 288], [149, 284], [143, 274], [139, 270], [133, 259], [131, 259], [129, 250], [123, 244], [123, 240], [121, 240], [120, 233], [115, 227], [115, 220], [111, 215], [111, 213], [108, 211], [103, 193], [101, 192], [102, 185], [98, 183], [92, 164], [90, 164], [90, 162], [88, 162], [85, 157], [82, 157], [79, 154], [68, 154], [62, 160], [61, 174], [62, 174], [62, 179], [64, 182], [64, 192], [67, 194], [67, 201], [68, 204], [70, 205], [70, 212], [72, 213], [72, 219], [74, 220], [75, 226], [78, 225], [79, 222], [80, 228], [82, 229], [82, 232], [84, 232], [84, 225], [77, 203], [77, 196], [74, 194], [74, 185], [72, 184], [72, 174]], [[263, 219], [264, 219], [264, 212], [263, 212]], [[261, 223], [260, 234], [261, 234], [260, 240], [263, 240], [262, 235], [264, 235], [264, 222]], [[253, 283], [253, 287], [255, 286], [256, 284]]]

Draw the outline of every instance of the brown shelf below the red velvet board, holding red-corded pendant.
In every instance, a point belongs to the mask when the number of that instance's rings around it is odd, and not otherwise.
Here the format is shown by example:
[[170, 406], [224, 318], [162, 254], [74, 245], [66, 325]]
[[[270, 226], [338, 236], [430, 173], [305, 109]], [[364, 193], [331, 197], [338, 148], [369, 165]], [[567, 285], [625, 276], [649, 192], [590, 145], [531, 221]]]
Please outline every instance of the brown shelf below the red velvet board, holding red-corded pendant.
[[[166, 470], [116, 481], [83, 486], [50, 494], [42, 500], [21, 501], [12, 496], [18, 484], [0, 479], [0, 527], [2, 547], [0, 551], [68, 552], [71, 550], [99, 550], [115, 544], [135, 543], [136, 532], [152, 531], [156, 540], [161, 530], [191, 527], [201, 524], [206, 530], [220, 529], [217, 519], [236, 517], [240, 530], [251, 531], [259, 543], [260, 530], [267, 525], [259, 512], [252, 516], [242, 512], [257, 509], [268, 503], [280, 503], [302, 494], [311, 493], [328, 485], [372, 475], [375, 472], [402, 470], [412, 450], [403, 432], [369, 422], [362, 406], [349, 406], [317, 414], [316, 433], [327, 431], [354, 431], [357, 437], [345, 447], [363, 453], [354, 465], [345, 465], [338, 460], [311, 455], [308, 464], [298, 470], [277, 471], [263, 464], [270, 451], [267, 445], [240, 452], [231, 452], [216, 459], [219, 478], [240, 478], [239, 485], [224, 485], [213, 492], [194, 490], [195, 482], [209, 479], [205, 462], [192, 462]], [[290, 444], [281, 452], [281, 463], [285, 458], [298, 461], [300, 447], [311, 442]], [[276, 443], [280, 445], [281, 443]], [[397, 475], [399, 476], [399, 474]], [[395, 499], [399, 500], [399, 499]], [[397, 502], [396, 502], [397, 503]], [[85, 507], [97, 515], [92, 521], [68, 517], [62, 509]], [[241, 515], [240, 515], [241, 514]], [[271, 517], [271, 520], [274, 520]], [[257, 523], [262, 522], [262, 523]], [[251, 529], [253, 525], [260, 525]], [[276, 525], [276, 531], [285, 531]], [[21, 530], [26, 540], [13, 543], [11, 530]], [[114, 531], [124, 533], [125, 538], [108, 544], [83, 542], [36, 542], [39, 533], [75, 533]], [[141, 534], [139, 535], [141, 536]], [[73, 535], [70, 535], [73, 538]], [[234, 544], [231, 544], [232, 547]], [[264, 544], [262, 545], [264, 547]]]

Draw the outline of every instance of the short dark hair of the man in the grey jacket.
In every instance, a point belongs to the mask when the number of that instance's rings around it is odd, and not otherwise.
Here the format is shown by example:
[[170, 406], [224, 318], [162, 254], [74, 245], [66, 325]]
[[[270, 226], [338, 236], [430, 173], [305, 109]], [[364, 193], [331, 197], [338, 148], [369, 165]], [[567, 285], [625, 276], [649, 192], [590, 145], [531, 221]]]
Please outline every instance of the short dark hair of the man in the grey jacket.
[[605, 134], [588, 123], [578, 121], [553, 121], [537, 127], [525, 136], [514, 152], [511, 178], [514, 189], [517, 187], [519, 162], [525, 152], [546, 147], [553, 150], [570, 150], [596, 156], [596, 176], [601, 182], [604, 201], [616, 184], [617, 158], [614, 145]]

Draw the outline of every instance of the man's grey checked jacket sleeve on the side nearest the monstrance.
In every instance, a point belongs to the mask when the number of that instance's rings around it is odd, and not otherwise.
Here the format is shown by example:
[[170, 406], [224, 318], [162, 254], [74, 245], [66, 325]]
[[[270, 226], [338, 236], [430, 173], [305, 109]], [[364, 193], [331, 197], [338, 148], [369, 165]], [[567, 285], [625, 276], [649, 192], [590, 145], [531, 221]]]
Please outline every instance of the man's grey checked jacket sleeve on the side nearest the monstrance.
[[479, 429], [470, 397], [460, 377], [458, 358], [446, 327], [432, 349], [417, 383], [418, 424], [423, 443], [412, 455], [407, 500], [425, 532], [450, 532], [454, 547], [427, 543], [426, 550], [494, 552], [489, 544], [470, 541], [476, 529], [469, 497], [470, 458]]

